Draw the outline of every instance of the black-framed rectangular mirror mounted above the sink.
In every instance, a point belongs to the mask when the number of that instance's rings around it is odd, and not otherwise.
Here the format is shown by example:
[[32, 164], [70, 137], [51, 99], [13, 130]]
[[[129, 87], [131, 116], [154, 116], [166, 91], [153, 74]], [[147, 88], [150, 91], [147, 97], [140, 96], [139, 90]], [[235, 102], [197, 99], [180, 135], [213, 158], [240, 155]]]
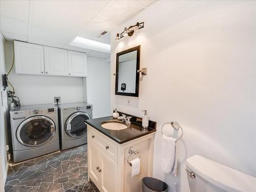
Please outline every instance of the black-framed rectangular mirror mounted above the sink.
[[139, 96], [140, 46], [116, 54], [116, 95]]

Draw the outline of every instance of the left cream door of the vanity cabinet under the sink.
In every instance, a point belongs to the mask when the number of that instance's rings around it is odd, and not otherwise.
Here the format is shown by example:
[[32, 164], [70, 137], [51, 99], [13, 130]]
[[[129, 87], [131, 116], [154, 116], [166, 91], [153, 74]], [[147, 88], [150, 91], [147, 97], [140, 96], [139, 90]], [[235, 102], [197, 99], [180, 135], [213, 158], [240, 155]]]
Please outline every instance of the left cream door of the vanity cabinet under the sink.
[[89, 177], [94, 182], [96, 186], [100, 186], [99, 177], [99, 148], [89, 139], [88, 140], [88, 172]]

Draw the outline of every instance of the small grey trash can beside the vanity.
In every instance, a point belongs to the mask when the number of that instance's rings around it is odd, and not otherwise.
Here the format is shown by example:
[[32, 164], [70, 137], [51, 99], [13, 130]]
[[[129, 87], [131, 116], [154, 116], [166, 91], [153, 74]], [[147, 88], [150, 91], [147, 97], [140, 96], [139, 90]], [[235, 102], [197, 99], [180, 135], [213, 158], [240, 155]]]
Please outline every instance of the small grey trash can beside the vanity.
[[143, 192], [167, 192], [168, 185], [159, 179], [144, 177], [142, 179], [142, 190]]

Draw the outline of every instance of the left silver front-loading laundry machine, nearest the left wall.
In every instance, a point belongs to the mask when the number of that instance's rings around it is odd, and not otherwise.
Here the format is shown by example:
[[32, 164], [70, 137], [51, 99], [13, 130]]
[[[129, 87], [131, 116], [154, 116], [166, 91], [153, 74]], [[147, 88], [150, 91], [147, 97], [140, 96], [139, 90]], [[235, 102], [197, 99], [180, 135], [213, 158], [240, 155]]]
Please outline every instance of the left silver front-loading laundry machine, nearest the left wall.
[[54, 104], [24, 105], [10, 111], [14, 163], [59, 150]]

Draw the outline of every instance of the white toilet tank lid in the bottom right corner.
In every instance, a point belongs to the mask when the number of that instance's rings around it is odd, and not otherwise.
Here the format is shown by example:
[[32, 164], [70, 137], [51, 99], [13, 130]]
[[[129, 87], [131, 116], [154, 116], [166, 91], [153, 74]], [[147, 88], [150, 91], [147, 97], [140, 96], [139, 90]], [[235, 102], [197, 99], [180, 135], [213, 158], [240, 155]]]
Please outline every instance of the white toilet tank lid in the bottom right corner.
[[255, 192], [256, 178], [236, 169], [227, 167], [199, 155], [187, 159], [187, 167], [195, 175], [206, 181], [231, 192]]

